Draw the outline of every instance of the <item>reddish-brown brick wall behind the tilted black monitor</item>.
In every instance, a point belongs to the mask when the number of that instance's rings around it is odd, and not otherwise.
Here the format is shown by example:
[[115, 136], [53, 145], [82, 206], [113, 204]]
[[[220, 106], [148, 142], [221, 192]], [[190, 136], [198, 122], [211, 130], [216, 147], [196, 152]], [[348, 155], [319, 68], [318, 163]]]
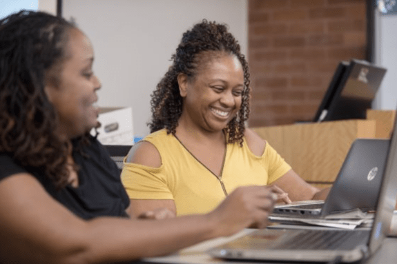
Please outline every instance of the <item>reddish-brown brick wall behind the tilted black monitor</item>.
[[249, 0], [249, 126], [313, 119], [338, 62], [365, 59], [365, 0]]

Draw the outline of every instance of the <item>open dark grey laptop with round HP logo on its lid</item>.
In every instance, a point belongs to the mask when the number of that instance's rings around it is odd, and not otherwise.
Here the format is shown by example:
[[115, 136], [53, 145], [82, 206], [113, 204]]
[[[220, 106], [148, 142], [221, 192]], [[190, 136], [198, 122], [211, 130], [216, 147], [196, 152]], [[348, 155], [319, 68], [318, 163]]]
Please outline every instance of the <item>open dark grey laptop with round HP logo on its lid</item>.
[[388, 139], [356, 139], [325, 201], [278, 204], [273, 215], [325, 218], [357, 208], [374, 210], [389, 143]]

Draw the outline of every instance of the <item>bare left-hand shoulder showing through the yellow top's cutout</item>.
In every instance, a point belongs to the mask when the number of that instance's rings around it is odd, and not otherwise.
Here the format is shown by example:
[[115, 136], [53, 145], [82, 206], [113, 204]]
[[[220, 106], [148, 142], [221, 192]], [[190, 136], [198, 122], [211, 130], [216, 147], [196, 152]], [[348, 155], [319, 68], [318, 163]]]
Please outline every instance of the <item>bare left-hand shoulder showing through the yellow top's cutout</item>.
[[162, 157], [152, 143], [139, 141], [128, 152], [126, 162], [148, 167], [160, 167], [162, 165]]

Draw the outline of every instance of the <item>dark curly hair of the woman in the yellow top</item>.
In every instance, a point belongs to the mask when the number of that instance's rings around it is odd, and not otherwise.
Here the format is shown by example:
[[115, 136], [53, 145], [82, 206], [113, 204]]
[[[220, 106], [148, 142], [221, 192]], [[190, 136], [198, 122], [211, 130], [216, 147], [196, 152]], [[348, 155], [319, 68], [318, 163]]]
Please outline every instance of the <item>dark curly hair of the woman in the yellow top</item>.
[[[186, 74], [188, 79], [194, 79], [203, 57], [211, 52], [224, 52], [234, 55], [240, 61], [244, 70], [244, 90], [242, 91], [242, 105], [238, 114], [228, 123], [224, 132], [228, 135], [228, 143], [239, 142], [242, 145], [244, 136], [244, 122], [249, 117], [249, 67], [240, 51], [240, 44], [228, 32], [226, 24], [209, 22], [204, 19], [186, 31], [182, 41], [172, 55], [173, 64], [168, 69], [162, 80], [157, 84], [157, 89], [151, 94], [152, 119], [148, 123], [151, 132], [166, 128], [167, 133], [174, 134], [178, 119], [182, 114], [182, 97], [180, 96], [177, 77]], [[207, 56], [208, 57], [208, 56]]]

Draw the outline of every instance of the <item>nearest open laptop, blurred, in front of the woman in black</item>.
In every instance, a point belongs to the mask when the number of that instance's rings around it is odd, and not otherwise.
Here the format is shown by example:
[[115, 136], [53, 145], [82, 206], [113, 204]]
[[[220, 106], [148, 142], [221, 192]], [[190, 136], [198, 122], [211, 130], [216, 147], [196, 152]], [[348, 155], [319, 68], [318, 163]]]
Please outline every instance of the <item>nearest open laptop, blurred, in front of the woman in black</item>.
[[391, 136], [371, 230], [258, 230], [214, 247], [218, 258], [258, 261], [353, 262], [374, 254], [389, 233], [397, 196], [397, 132]]

